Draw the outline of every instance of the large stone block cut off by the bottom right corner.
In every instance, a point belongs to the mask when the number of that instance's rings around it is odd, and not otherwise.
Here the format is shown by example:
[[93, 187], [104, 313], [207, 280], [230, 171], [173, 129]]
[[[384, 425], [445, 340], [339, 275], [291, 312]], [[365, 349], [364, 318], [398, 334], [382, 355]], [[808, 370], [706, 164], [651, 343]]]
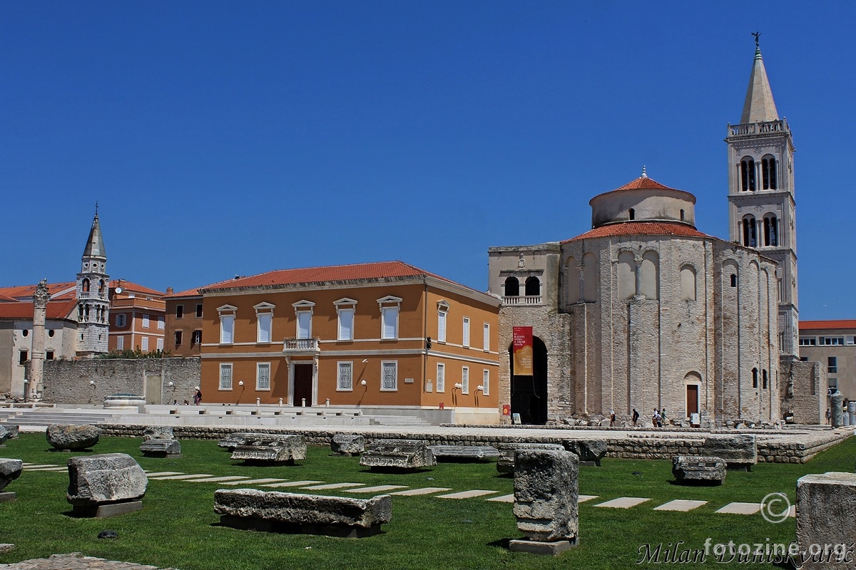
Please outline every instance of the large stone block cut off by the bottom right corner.
[[853, 513], [856, 513], [856, 473], [817, 473], [797, 480], [800, 568], [853, 567], [856, 557]]

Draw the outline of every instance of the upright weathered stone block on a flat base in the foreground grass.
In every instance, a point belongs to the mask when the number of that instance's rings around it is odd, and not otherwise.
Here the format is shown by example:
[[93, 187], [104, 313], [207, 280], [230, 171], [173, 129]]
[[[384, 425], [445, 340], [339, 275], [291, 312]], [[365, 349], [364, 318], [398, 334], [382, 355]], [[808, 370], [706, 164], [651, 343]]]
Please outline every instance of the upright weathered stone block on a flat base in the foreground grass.
[[510, 549], [556, 555], [576, 544], [579, 465], [570, 451], [515, 452], [514, 516], [527, 540], [511, 541]]

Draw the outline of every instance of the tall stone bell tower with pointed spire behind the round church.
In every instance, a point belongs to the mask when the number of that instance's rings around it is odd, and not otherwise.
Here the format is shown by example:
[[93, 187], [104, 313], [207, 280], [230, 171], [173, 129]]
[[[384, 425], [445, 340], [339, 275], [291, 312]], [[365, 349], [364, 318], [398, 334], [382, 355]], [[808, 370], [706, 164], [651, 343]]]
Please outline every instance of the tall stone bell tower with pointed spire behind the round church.
[[779, 352], [799, 360], [794, 139], [773, 102], [755, 36], [755, 58], [739, 125], [728, 125], [729, 238], [778, 263]]

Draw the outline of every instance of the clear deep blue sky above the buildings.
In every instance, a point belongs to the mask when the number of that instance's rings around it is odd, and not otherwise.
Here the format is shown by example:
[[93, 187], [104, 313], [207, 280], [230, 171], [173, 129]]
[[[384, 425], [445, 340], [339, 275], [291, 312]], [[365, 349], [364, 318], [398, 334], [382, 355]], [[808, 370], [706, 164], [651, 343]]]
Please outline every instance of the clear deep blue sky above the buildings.
[[6, 2], [0, 285], [176, 291], [574, 237], [639, 176], [728, 239], [722, 139], [760, 31], [795, 156], [802, 319], [856, 318], [856, 3]]

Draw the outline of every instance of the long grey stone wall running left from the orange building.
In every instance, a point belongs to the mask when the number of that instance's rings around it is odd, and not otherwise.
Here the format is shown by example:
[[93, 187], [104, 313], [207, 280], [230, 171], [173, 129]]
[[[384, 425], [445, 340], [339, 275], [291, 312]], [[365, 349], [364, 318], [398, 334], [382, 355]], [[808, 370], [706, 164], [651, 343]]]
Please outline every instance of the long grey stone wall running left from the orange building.
[[199, 358], [45, 361], [42, 400], [100, 404], [112, 394], [136, 394], [146, 403], [193, 401], [200, 370]]

